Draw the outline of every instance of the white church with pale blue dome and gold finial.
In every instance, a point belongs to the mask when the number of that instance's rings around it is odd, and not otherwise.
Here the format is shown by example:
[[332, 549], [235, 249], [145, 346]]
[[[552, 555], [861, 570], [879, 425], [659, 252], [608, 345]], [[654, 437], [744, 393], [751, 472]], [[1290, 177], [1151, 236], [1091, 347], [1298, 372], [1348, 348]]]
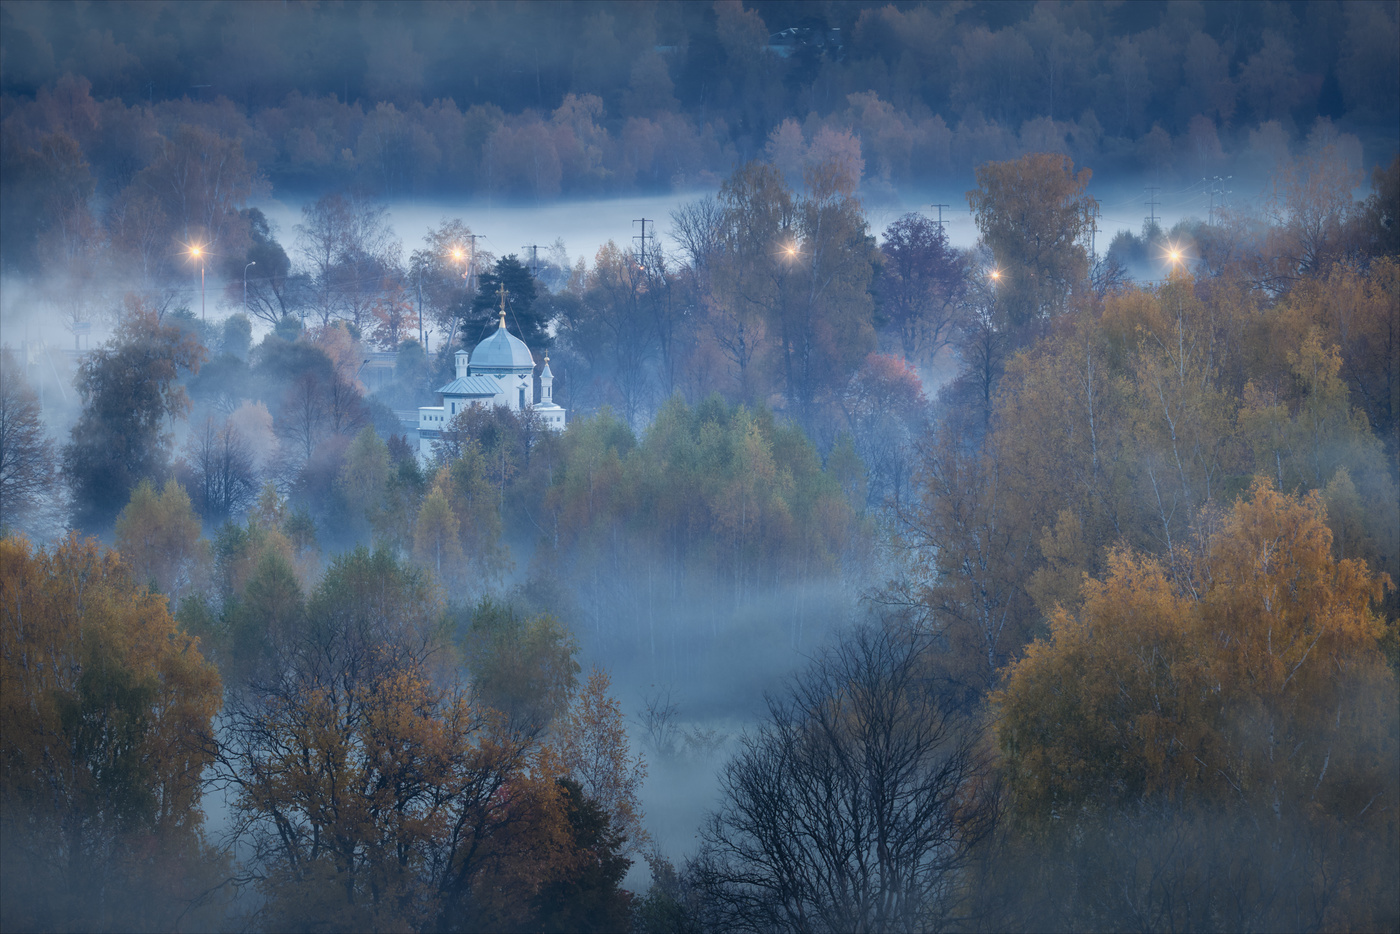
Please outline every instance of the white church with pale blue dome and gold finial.
[[438, 393], [442, 405], [419, 407], [419, 454], [433, 456], [433, 442], [452, 419], [468, 406], [505, 406], [511, 412], [533, 412], [546, 428], [564, 430], [566, 410], [554, 405], [554, 374], [549, 354], [539, 372], [539, 402], [535, 402], [535, 357], [525, 342], [505, 329], [505, 295], [501, 294], [501, 323], [469, 354], [456, 351], [456, 379]]

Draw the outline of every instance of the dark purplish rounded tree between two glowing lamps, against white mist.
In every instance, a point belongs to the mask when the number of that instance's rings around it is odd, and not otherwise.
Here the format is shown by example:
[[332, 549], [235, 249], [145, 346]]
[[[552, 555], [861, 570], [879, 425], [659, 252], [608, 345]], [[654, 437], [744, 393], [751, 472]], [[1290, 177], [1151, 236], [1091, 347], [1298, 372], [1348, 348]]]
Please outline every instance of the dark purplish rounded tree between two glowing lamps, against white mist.
[[958, 332], [966, 291], [962, 258], [944, 228], [923, 214], [890, 224], [881, 253], [879, 315], [899, 337], [906, 363], [932, 361]]

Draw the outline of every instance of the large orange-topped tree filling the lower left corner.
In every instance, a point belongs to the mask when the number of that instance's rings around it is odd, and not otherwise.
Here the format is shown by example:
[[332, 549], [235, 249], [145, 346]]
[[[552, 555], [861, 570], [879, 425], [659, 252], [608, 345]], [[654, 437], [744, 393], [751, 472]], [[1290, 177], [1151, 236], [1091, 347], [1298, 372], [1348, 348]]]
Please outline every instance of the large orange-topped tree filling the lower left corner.
[[199, 804], [220, 681], [165, 597], [92, 541], [0, 539], [0, 643], [6, 928], [217, 924]]

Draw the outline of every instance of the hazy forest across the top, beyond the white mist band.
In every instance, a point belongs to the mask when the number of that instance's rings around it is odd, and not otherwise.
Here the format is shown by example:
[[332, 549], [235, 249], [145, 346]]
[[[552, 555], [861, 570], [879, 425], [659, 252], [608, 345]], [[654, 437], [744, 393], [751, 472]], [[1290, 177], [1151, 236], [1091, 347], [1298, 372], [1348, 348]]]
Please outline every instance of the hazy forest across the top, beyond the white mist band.
[[[1383, 157], [1394, 10], [1327, 10], [21, 4], [4, 168], [63, 133], [111, 196], [179, 125], [237, 140], [279, 190], [385, 196], [685, 189], [823, 130], [854, 133], [878, 185], [1025, 151], [1194, 181], [1319, 118]], [[55, 113], [78, 90], [101, 104]]]

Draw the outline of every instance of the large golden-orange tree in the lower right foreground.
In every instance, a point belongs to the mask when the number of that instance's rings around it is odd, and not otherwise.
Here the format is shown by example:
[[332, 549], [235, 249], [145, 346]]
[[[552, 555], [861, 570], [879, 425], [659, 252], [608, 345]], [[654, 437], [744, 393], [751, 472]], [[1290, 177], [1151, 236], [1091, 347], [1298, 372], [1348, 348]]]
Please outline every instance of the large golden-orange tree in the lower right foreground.
[[[1009, 669], [995, 696], [997, 737], [1026, 833], [1046, 846], [1067, 833], [1112, 843], [1134, 814], [1182, 814], [1141, 846], [1112, 844], [1163, 875], [1133, 878], [1093, 861], [1098, 875], [1077, 882], [1085, 892], [1121, 888], [1127, 905], [1114, 910], [1177, 926], [1225, 916], [1366, 927], [1394, 917], [1394, 877], [1373, 863], [1397, 858], [1396, 816], [1373, 809], [1400, 783], [1394, 672], [1372, 611], [1390, 583], [1336, 559], [1324, 520], [1316, 493], [1295, 499], [1256, 480], [1226, 515], [1201, 515], [1187, 573], [1114, 552], [1105, 577], [1085, 583], [1082, 608], [1056, 612], [1049, 639]], [[1264, 851], [1301, 863], [1256, 888], [1247, 872], [1222, 878], [1198, 905], [1177, 903], [1194, 871], [1152, 847], [1196, 833], [1193, 815], [1219, 814], [1253, 825]], [[1368, 857], [1350, 858], [1351, 847]], [[1322, 861], [1329, 872], [1317, 871]]]

